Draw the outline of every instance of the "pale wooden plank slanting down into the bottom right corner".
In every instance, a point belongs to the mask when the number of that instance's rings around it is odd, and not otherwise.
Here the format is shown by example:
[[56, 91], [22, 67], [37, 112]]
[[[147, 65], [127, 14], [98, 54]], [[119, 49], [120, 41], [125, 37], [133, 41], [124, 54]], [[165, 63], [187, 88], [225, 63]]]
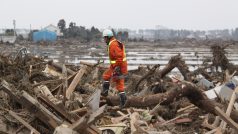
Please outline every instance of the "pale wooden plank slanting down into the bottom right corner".
[[230, 127], [234, 128], [238, 132], [238, 124], [236, 124], [230, 117], [228, 117], [219, 107], [215, 107], [217, 115], [221, 117]]

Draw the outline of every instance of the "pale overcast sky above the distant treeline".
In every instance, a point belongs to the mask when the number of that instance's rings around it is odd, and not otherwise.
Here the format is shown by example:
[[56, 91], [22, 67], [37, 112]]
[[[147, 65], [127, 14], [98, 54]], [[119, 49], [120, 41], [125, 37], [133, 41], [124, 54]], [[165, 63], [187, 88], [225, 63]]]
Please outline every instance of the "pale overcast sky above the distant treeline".
[[0, 0], [0, 28], [68, 27], [210, 30], [238, 27], [238, 0]]

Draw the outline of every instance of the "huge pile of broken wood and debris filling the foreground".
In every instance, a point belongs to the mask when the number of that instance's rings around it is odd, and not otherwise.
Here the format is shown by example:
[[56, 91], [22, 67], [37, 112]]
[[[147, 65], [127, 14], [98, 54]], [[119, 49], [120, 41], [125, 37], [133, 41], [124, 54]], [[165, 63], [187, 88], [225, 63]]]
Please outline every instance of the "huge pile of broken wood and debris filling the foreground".
[[[140, 66], [130, 71], [123, 109], [114, 85], [108, 97], [100, 96], [106, 65], [60, 65], [25, 49], [1, 55], [0, 132], [235, 134], [238, 67], [229, 63], [224, 49], [212, 46], [212, 64], [207, 60], [195, 71], [180, 55], [171, 57], [164, 68]], [[181, 75], [171, 75], [174, 68]]]

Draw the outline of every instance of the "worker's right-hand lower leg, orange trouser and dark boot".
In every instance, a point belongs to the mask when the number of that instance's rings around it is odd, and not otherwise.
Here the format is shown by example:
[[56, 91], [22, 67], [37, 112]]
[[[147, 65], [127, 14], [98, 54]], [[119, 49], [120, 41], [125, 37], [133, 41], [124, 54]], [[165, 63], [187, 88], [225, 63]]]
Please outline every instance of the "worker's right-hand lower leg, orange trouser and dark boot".
[[126, 104], [126, 93], [125, 93], [125, 87], [124, 87], [124, 79], [118, 79], [116, 80], [116, 88], [119, 91], [119, 97], [120, 97], [120, 108], [123, 108]]

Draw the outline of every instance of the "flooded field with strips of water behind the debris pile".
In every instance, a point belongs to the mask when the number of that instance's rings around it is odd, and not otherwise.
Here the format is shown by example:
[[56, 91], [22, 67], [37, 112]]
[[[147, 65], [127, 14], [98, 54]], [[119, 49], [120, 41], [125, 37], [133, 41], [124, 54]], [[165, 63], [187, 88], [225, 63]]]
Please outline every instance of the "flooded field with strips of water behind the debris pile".
[[[43, 57], [46, 60], [54, 62], [79, 65], [80, 61], [97, 63], [99, 60], [108, 64], [106, 45], [103, 43], [78, 44], [78, 45], [13, 45], [4, 46], [5, 52], [14, 52], [21, 47], [26, 47], [28, 53]], [[238, 47], [226, 49], [226, 56], [231, 63], [238, 64]], [[3, 52], [3, 51], [2, 51]], [[197, 69], [204, 59], [212, 59], [212, 53], [209, 46], [176, 46], [168, 47], [156, 45], [154, 43], [127, 43], [126, 44], [127, 60], [129, 70], [138, 68], [139, 65], [160, 64], [161, 68], [168, 63], [168, 60], [175, 55], [180, 54], [186, 61], [190, 70]], [[174, 69], [173, 71], [176, 71]]]

